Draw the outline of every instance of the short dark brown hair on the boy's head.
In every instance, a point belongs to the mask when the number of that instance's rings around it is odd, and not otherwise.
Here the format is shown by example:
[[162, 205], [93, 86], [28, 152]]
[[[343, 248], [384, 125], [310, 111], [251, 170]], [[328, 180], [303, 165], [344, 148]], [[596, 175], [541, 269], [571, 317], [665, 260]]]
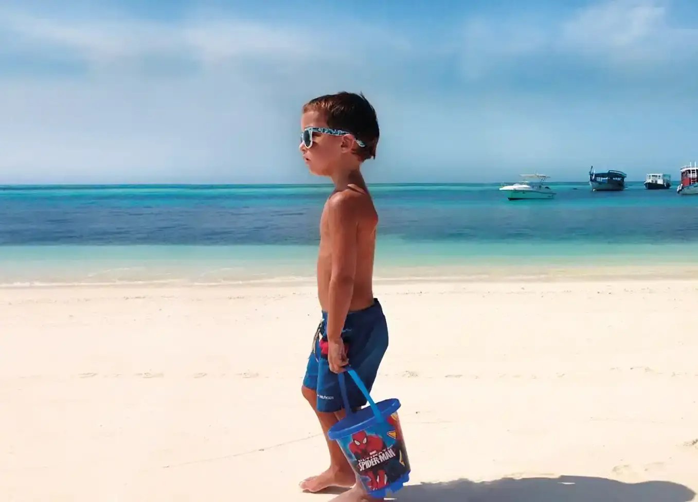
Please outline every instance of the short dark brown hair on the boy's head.
[[365, 161], [367, 158], [376, 158], [378, 146], [378, 118], [376, 110], [363, 94], [352, 92], [338, 92], [337, 94], [325, 94], [311, 99], [303, 107], [303, 112], [321, 112], [325, 115], [327, 126], [333, 129], [341, 129], [352, 133], [357, 140], [364, 142], [365, 147], [358, 147], [357, 156]]

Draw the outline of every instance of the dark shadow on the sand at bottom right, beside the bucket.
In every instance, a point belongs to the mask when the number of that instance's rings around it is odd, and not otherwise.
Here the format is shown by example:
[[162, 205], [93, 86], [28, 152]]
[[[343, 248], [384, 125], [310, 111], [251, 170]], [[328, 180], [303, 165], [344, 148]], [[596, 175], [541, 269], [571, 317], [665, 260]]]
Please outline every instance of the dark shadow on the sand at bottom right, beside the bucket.
[[398, 502], [688, 502], [694, 496], [688, 487], [667, 481], [624, 483], [567, 475], [424, 483], [395, 494]]

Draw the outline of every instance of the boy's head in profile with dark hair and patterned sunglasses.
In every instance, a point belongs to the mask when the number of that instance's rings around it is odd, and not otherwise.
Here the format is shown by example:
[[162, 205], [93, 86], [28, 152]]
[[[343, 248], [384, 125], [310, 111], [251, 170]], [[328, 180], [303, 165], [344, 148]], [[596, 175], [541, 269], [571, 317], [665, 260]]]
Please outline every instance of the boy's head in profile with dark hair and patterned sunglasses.
[[303, 106], [300, 151], [311, 172], [329, 176], [376, 157], [378, 119], [363, 94], [339, 92]]

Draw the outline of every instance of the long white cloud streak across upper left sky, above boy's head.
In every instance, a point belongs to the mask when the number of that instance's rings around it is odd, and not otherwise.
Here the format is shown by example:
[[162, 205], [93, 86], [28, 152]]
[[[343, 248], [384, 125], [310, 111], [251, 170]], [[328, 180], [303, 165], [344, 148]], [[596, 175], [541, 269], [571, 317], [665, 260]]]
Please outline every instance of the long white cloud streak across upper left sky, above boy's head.
[[[160, 57], [216, 66], [230, 61], [262, 57], [268, 61], [318, 61], [336, 59], [336, 32], [351, 58], [370, 57], [369, 48], [407, 52], [406, 38], [388, 29], [347, 22], [335, 29], [256, 22], [236, 17], [192, 17], [179, 22], [70, 19], [0, 8], [0, 35], [10, 34], [15, 49], [63, 49], [87, 62], [92, 69]], [[135, 66], [139, 68], [138, 65]], [[142, 67], [140, 67], [142, 68]]]

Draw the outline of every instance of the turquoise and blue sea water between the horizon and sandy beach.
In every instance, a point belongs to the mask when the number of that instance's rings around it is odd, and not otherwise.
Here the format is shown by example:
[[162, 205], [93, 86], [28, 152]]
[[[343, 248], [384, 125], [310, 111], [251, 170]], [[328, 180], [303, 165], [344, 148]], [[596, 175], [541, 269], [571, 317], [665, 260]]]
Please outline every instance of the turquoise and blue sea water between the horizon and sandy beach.
[[[506, 200], [498, 184], [376, 185], [376, 274], [692, 264], [698, 196]], [[312, 276], [330, 186], [0, 186], [0, 283], [220, 283]], [[402, 270], [403, 272], [399, 272]], [[404, 272], [407, 273], [407, 272]]]

